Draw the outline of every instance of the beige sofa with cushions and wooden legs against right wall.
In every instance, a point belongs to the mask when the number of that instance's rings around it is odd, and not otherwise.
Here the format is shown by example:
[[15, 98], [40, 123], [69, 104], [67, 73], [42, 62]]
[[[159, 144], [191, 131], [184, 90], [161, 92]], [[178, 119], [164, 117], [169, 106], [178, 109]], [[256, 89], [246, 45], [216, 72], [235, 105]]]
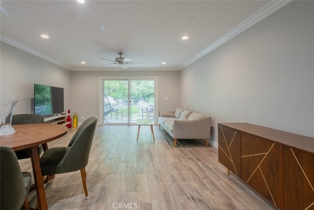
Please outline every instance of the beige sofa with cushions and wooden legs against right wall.
[[159, 112], [159, 128], [165, 130], [174, 139], [205, 139], [208, 147], [211, 117], [177, 108], [175, 111]]

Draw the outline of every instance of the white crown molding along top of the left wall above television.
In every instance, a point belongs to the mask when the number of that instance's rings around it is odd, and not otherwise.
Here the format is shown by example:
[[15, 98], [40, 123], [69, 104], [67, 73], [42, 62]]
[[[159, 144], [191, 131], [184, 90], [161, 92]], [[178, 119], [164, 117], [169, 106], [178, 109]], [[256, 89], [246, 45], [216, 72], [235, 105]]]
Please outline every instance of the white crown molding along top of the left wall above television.
[[65, 65], [64, 63], [62, 63], [58, 60], [52, 59], [51, 57], [33, 49], [33, 48], [30, 48], [30, 47], [26, 46], [25, 44], [22, 44], [21, 42], [18, 42], [18, 41], [14, 40], [14, 39], [6, 36], [6, 35], [0, 34], [0, 40], [9, 44], [9, 45], [12, 45], [12, 46], [18, 48], [18, 49], [26, 51], [27, 53], [30, 53], [34, 56], [37, 56], [37, 57], [42, 58], [44, 60], [48, 60], [48, 61], [50, 61], [50, 62], [52, 62], [58, 66], [61, 66], [63, 68], [70, 70], [70, 68], [67, 65]]

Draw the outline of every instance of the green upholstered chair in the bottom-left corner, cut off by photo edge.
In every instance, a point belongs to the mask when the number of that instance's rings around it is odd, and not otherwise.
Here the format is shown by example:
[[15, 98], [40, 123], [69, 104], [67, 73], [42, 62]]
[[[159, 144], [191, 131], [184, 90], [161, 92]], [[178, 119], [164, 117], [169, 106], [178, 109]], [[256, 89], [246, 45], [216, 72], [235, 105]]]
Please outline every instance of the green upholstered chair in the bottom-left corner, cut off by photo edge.
[[31, 175], [22, 172], [14, 150], [0, 147], [0, 210], [29, 210]]

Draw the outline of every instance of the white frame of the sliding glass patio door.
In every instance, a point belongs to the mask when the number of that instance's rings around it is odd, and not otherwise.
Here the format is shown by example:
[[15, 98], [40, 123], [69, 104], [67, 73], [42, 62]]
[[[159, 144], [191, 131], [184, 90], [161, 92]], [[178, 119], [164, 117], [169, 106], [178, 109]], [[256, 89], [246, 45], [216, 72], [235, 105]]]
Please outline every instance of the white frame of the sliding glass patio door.
[[157, 124], [158, 119], [158, 77], [100, 77], [99, 78], [99, 122], [100, 125], [135, 125], [135, 122], [130, 122], [130, 116], [128, 115], [128, 122], [126, 123], [105, 123], [104, 122], [104, 89], [103, 89], [103, 80], [128, 80], [128, 113], [130, 113], [130, 80], [154, 80], [155, 81], [155, 102], [154, 102], [154, 121]]

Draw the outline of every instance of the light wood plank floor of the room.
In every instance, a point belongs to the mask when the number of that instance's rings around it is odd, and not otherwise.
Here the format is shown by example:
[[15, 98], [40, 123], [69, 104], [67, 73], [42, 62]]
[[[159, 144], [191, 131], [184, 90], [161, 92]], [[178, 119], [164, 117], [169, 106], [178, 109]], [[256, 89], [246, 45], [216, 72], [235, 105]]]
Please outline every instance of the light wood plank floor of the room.
[[[154, 126], [97, 126], [86, 167], [88, 197], [80, 172], [58, 174], [46, 185], [49, 210], [270, 210], [270, 202], [252, 191], [218, 162], [218, 150], [204, 140], [178, 140]], [[48, 144], [67, 146], [76, 129]], [[20, 160], [31, 172], [30, 160]], [[29, 193], [35, 208], [35, 192]], [[120, 206], [119, 206], [120, 205]]]

